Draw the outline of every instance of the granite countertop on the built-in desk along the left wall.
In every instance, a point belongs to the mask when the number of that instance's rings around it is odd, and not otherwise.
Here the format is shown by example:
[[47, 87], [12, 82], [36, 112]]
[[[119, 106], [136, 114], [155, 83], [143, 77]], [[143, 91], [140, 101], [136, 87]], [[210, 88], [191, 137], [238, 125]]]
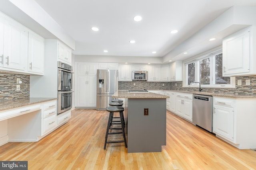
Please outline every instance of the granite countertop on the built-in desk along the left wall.
[[32, 104], [38, 104], [42, 102], [48, 102], [51, 100], [57, 100], [58, 98], [26, 98], [20, 100], [7, 100], [0, 101], [0, 111], [15, 109], [18, 107], [29, 106]]

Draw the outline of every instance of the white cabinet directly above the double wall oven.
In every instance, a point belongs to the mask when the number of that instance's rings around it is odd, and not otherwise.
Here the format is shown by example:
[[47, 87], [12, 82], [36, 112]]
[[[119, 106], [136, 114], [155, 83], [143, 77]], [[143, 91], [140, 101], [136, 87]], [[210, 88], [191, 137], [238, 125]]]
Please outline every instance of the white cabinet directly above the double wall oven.
[[58, 61], [62, 61], [67, 64], [72, 62], [72, 49], [58, 41]]

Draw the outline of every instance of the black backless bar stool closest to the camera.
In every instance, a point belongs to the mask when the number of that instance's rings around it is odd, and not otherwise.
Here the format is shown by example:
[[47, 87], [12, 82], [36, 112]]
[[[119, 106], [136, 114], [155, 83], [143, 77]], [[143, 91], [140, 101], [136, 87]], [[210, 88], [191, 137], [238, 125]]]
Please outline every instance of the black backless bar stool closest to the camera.
[[[108, 126], [107, 126], [107, 131], [106, 131], [106, 136], [105, 136], [105, 144], [104, 144], [104, 149], [106, 149], [106, 145], [107, 143], [121, 143], [124, 142], [125, 147], [127, 148], [127, 143], [126, 143], [126, 137], [125, 137], [125, 133], [124, 133], [124, 107], [116, 107], [116, 106], [109, 106], [106, 107], [106, 111], [109, 111], [109, 117], [108, 117]], [[121, 128], [112, 128], [110, 127], [110, 123], [112, 120], [112, 117], [114, 115], [114, 112], [119, 112], [120, 115], [120, 119], [121, 119]], [[109, 132], [109, 129], [122, 129], [122, 132]], [[123, 141], [108, 141], [108, 135], [113, 135], [113, 134], [123, 134]]]

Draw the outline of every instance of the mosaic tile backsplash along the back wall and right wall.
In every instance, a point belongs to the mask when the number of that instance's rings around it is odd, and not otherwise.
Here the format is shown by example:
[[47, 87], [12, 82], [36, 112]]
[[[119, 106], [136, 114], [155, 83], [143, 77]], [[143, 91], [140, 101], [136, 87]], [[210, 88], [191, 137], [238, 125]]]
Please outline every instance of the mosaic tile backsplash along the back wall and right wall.
[[[250, 79], [250, 85], [246, 85], [246, 80]], [[237, 80], [242, 80], [242, 86], [238, 86]], [[183, 88], [182, 81], [177, 82], [147, 82], [135, 80], [132, 82], [118, 82], [119, 90], [147, 89], [147, 90], [184, 90], [198, 91], [198, 88]], [[134, 86], [135, 83], [135, 86]], [[162, 84], [164, 83], [164, 86]], [[235, 95], [256, 96], [256, 75], [236, 77], [236, 88], [202, 88], [204, 92], [225, 93]]]

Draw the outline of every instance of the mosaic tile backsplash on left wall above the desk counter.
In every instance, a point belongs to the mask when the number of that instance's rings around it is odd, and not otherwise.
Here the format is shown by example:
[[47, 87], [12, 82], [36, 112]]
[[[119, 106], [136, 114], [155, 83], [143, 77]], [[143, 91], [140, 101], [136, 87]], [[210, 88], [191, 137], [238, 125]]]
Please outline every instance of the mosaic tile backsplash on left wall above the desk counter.
[[[20, 78], [20, 90], [16, 90], [17, 78]], [[30, 76], [9, 72], [0, 72], [0, 101], [18, 100], [30, 97]]]

